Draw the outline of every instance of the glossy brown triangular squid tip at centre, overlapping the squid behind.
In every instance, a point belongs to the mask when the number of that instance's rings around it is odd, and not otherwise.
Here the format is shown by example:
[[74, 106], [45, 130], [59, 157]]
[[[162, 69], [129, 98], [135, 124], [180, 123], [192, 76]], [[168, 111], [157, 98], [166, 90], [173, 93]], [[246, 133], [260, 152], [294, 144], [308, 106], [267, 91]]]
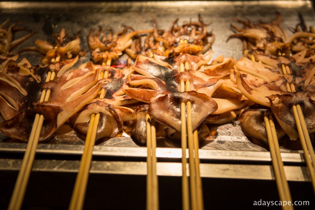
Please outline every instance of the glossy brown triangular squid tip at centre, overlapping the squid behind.
[[148, 112], [157, 121], [177, 131], [181, 131], [180, 104], [192, 104], [192, 129], [195, 130], [203, 120], [217, 110], [216, 102], [205, 94], [195, 91], [170, 93], [149, 104]]

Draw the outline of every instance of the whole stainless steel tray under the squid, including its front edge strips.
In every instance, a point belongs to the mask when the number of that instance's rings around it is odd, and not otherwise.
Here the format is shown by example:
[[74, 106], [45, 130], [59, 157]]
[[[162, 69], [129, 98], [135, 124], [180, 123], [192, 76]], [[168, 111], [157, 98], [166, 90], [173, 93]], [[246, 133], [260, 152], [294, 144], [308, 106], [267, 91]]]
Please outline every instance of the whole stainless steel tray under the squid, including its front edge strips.
[[[75, 12], [74, 12], [75, 11]], [[242, 57], [242, 43], [238, 39], [232, 39], [226, 42], [227, 37], [233, 32], [230, 24], [235, 23], [234, 17], [248, 18], [251, 21], [270, 21], [276, 18], [276, 12], [282, 14], [281, 25], [284, 28], [294, 27], [299, 23], [298, 13], [301, 13], [307, 26], [315, 25], [315, 14], [311, 1], [176, 1], [176, 2], [108, 2], [108, 3], [52, 3], [52, 2], [1, 2], [0, 3], [0, 21], [10, 18], [10, 23], [25, 21], [24, 26], [29, 29], [36, 29], [35, 36], [27, 40], [15, 48], [15, 52], [26, 46], [34, 45], [36, 39], [43, 39], [52, 41], [52, 33], [59, 32], [61, 28], [65, 28], [69, 34], [80, 32], [81, 46], [87, 50], [87, 54], [82, 57], [80, 63], [88, 62], [90, 60], [87, 35], [92, 28], [98, 26], [112, 27], [117, 32], [123, 28], [123, 25], [131, 26], [135, 30], [152, 28], [152, 19], [157, 20], [159, 28], [168, 29], [171, 22], [179, 18], [179, 23], [189, 20], [197, 20], [198, 14], [201, 14], [204, 21], [211, 23], [208, 26], [209, 31], [215, 34], [215, 43], [212, 46], [214, 50], [213, 58], [223, 54], [225, 57], [233, 56], [235, 59]], [[31, 64], [37, 64], [42, 58], [41, 55], [35, 52], [20, 53], [20, 58], [26, 57], [31, 61]], [[77, 64], [77, 65], [79, 65]], [[261, 169], [267, 174], [262, 175], [262, 179], [273, 179], [272, 170], [270, 169], [270, 154], [261, 146], [258, 146], [249, 139], [247, 139], [238, 122], [234, 121], [222, 126], [214, 126], [211, 129], [216, 130], [214, 136], [209, 136], [206, 140], [201, 142], [200, 158], [202, 161], [223, 161], [223, 162], [255, 162], [257, 165], [265, 165], [267, 168]], [[4, 135], [0, 134], [0, 152], [19, 154], [25, 150], [25, 143], [14, 143], [8, 140]], [[55, 134], [54, 138], [40, 143], [37, 153], [51, 154], [51, 155], [79, 155], [82, 153], [84, 141], [77, 137], [76, 133], [69, 127], [68, 124], [61, 127]], [[165, 148], [165, 145], [178, 147], [176, 142], [160, 143], [157, 155], [159, 158], [169, 158], [169, 162], [180, 158], [180, 150], [175, 148]], [[94, 155], [97, 156], [113, 156], [113, 157], [140, 157], [146, 156], [145, 145], [139, 145], [130, 137], [112, 138], [100, 143], [94, 148]], [[303, 165], [303, 158], [301, 151], [292, 151], [286, 148], [281, 148], [284, 152], [284, 162], [297, 165]], [[17, 170], [19, 168], [19, 160], [14, 159], [9, 164], [9, 159], [2, 159], [0, 162], [0, 169], [2, 170]], [[59, 164], [66, 167], [70, 162], [51, 162], [51, 165], [45, 167], [44, 160], [35, 161], [33, 170], [48, 170], [58, 171], [64, 170]], [[131, 162], [127, 162], [131, 164]], [[54, 165], [55, 164], [55, 165]], [[66, 167], [76, 171], [78, 168], [78, 161], [74, 161], [70, 165], [73, 167]], [[94, 164], [92, 163], [92, 172]], [[120, 164], [120, 163], [119, 163]], [[118, 164], [118, 165], [119, 165]], [[121, 163], [124, 164], [124, 163]], [[130, 167], [121, 167], [121, 173], [130, 174], [145, 174], [145, 163], [135, 162], [139, 164], [139, 171], [135, 172]], [[159, 163], [165, 165], [164, 163]], [[168, 166], [164, 169], [158, 170], [160, 175], [180, 175], [179, 163], [176, 167], [170, 167], [173, 170], [168, 171]], [[97, 165], [97, 164], [96, 164]], [[95, 167], [97, 167], [95, 165]], [[206, 164], [207, 165], [207, 164]], [[201, 166], [202, 175], [212, 176], [212, 166]], [[37, 167], [38, 166], [38, 167]], [[123, 165], [121, 165], [123, 166]], [[218, 165], [216, 165], [218, 166]], [[158, 166], [160, 167], [160, 166]], [[231, 166], [234, 167], [234, 166]], [[245, 170], [240, 166], [237, 169], [228, 167], [230, 175], [222, 175], [222, 177], [237, 177], [237, 171]], [[261, 171], [255, 168], [250, 169], [252, 165], [248, 165], [250, 175], [239, 175], [239, 178], [253, 178], [260, 179], [258, 176]], [[290, 168], [288, 166], [287, 168]], [[132, 167], [134, 168], [134, 167]], [[246, 168], [246, 167], [245, 167]], [[223, 170], [223, 169], [222, 169]], [[286, 169], [287, 170], [287, 169]], [[291, 169], [288, 169], [291, 170]], [[294, 169], [295, 170], [295, 169]], [[293, 170], [293, 171], [294, 171]], [[303, 167], [299, 167], [300, 172], [292, 172], [293, 178], [291, 180], [308, 180], [308, 174]], [[99, 173], [97, 169], [94, 170]], [[108, 170], [108, 173], [110, 173]], [[115, 170], [114, 170], [115, 171]], [[119, 170], [117, 169], [116, 172]], [[224, 170], [223, 170], [224, 171]], [[222, 174], [221, 172], [215, 174]], [[101, 173], [101, 172], [100, 172]], [[102, 170], [106, 173], [106, 170]], [[210, 174], [210, 175], [209, 175]], [[224, 174], [224, 173], [223, 173]], [[233, 175], [234, 174], [234, 175]], [[218, 175], [221, 176], [221, 175]]]

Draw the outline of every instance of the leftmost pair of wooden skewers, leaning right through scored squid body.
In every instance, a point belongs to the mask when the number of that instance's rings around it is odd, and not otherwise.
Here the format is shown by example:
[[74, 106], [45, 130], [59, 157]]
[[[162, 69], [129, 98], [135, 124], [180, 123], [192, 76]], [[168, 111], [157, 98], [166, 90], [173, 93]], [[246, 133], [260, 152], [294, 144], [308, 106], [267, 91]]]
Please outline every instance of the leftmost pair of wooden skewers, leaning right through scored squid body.
[[[57, 61], [59, 61], [59, 59], [60, 59], [60, 56], [56, 58]], [[55, 62], [55, 59], [52, 59], [51, 62]], [[55, 73], [49, 71], [47, 73], [45, 82], [54, 80], [54, 77], [55, 77]], [[50, 90], [47, 90], [47, 91], [43, 90], [41, 97], [39, 99], [39, 102], [41, 103], [44, 101], [48, 101], [49, 96], [50, 96]], [[40, 132], [42, 130], [43, 122], [44, 122], [44, 116], [36, 114], [32, 129], [31, 129], [30, 137], [28, 139], [26, 151], [25, 151], [23, 161], [21, 164], [21, 168], [20, 168], [16, 183], [14, 185], [14, 190], [11, 196], [8, 210], [18, 210], [22, 206], [28, 179], [31, 174], [31, 168], [35, 159], [36, 147], [38, 144]]]

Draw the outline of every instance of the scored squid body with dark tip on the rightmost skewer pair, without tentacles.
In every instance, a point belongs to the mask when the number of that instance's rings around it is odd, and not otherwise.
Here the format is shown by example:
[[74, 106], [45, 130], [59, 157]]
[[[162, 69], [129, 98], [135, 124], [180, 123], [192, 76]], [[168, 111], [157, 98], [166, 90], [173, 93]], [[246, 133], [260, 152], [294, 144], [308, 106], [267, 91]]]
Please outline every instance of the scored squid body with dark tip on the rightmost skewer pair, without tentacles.
[[[263, 62], [267, 60], [267, 62], [271, 63], [275, 67], [285, 64], [289, 67], [291, 72], [290, 74], [282, 75], [281, 70], [278, 68], [278, 76], [276, 76], [276, 73], [271, 71], [270, 76], [265, 74], [269, 77], [269, 82], [264, 82], [264, 80], [259, 80], [255, 76], [244, 72], [242, 73], [246, 77], [243, 77], [239, 73], [237, 75], [238, 86], [240, 86], [239, 88], [242, 90], [243, 94], [256, 103], [271, 107], [273, 115], [277, 119], [279, 125], [291, 140], [296, 140], [298, 138], [298, 132], [295, 127], [295, 119], [292, 113], [293, 105], [301, 105], [309, 133], [315, 132], [315, 116], [312, 111], [315, 108], [315, 86], [314, 83], [311, 82], [311, 73], [314, 68], [314, 64], [312, 64], [312, 62], [308, 62], [308, 60], [304, 62], [304, 56], [305, 54], [302, 55], [301, 53], [301, 55], [293, 55], [288, 58], [279, 56], [277, 59], [273, 60], [273, 57], [267, 56], [266, 58], [266, 56], [260, 55], [259, 58], [262, 58]], [[252, 61], [248, 61], [247, 59], [246, 62], [248, 66], [252, 66], [250, 65]], [[258, 66], [257, 62], [255, 65], [256, 67]], [[236, 67], [238, 68], [238, 65], [236, 65]], [[255, 68], [252, 68], [252, 70], [255, 70]], [[257, 72], [259, 73], [259, 71]], [[272, 76], [272, 72], [274, 76]], [[307, 80], [309, 80], [309, 82], [307, 82]], [[296, 92], [287, 92], [286, 83], [294, 84]], [[253, 87], [264, 87], [265, 91], [257, 92], [257, 90]], [[253, 98], [251, 98], [252, 96]]]

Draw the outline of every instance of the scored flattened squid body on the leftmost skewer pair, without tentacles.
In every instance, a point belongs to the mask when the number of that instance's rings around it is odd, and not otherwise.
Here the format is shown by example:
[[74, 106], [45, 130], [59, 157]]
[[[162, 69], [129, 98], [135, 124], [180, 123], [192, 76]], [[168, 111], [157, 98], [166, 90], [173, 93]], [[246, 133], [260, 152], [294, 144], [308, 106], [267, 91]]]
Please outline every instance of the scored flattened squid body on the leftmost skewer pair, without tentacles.
[[[96, 85], [99, 70], [91, 63], [60, 76], [55, 69], [56, 78], [45, 82], [49, 67], [32, 69], [26, 60], [24, 64], [14, 60], [4, 62], [0, 103], [5, 121], [0, 123], [0, 131], [13, 139], [28, 140], [36, 113], [45, 118], [40, 140], [48, 139], [100, 90], [100, 85]], [[60, 66], [70, 68], [73, 64], [68, 63], [63, 61]], [[42, 90], [48, 89], [51, 91], [49, 101], [39, 103]]]

